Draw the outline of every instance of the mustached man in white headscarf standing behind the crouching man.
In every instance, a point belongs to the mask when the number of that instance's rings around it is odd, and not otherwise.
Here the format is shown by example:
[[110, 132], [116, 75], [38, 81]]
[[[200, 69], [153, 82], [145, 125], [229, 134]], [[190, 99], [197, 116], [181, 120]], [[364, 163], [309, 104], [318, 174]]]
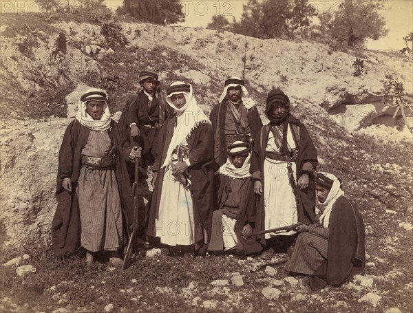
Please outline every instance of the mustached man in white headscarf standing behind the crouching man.
[[218, 166], [226, 162], [226, 149], [233, 142], [248, 142], [262, 127], [260, 114], [251, 98], [247, 98], [244, 80], [225, 80], [220, 102], [213, 107], [210, 118], [214, 138], [214, 158]]

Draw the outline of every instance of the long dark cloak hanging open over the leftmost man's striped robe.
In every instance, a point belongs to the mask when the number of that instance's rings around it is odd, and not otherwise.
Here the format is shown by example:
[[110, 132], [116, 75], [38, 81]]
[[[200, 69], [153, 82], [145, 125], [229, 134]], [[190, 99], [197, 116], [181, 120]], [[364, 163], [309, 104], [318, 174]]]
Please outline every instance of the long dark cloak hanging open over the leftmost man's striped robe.
[[[116, 179], [118, 182], [120, 201], [122, 205], [125, 228], [131, 225], [131, 190], [127, 168], [120, 151], [121, 141], [116, 130], [116, 122], [111, 120], [111, 127], [107, 130], [112, 144], [116, 146]], [[56, 179], [56, 199], [58, 205], [52, 221], [52, 246], [56, 257], [65, 252], [74, 252], [80, 244], [80, 221], [76, 192], [74, 191], [82, 167], [82, 150], [89, 138], [90, 129], [73, 120], [67, 126], [61, 149], [59, 151], [59, 168]], [[70, 177], [72, 193], [63, 188], [63, 179]], [[125, 237], [126, 238], [126, 237]]]

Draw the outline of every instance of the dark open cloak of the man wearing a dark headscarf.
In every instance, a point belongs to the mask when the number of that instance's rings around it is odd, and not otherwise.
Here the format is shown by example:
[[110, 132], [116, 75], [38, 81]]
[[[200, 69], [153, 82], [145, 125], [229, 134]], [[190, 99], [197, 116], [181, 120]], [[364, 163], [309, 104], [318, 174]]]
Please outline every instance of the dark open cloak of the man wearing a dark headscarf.
[[[298, 149], [296, 166], [296, 184], [297, 180], [304, 173], [303, 166], [306, 163], [313, 165], [313, 169], [317, 166], [317, 150], [313, 144], [313, 141], [308, 134], [306, 127], [299, 122], [299, 120], [290, 116], [286, 120], [289, 123], [290, 129], [293, 133], [295, 140], [295, 147]], [[265, 184], [271, 184], [265, 180], [264, 162], [266, 159], [266, 146], [268, 142], [268, 136], [271, 131], [271, 125], [267, 124], [260, 129], [255, 138], [253, 154], [251, 156], [250, 172], [253, 177], [259, 176], [263, 190]], [[277, 193], [277, 191], [274, 191]], [[297, 204], [297, 219], [298, 222], [315, 222], [315, 184], [312, 175], [309, 177], [308, 187], [305, 189], [299, 189], [297, 186], [298, 204]], [[257, 208], [257, 219], [255, 222], [255, 230], [265, 230], [265, 208], [264, 197], [261, 196]], [[263, 245], [266, 244], [265, 235], [260, 235], [260, 241]]]

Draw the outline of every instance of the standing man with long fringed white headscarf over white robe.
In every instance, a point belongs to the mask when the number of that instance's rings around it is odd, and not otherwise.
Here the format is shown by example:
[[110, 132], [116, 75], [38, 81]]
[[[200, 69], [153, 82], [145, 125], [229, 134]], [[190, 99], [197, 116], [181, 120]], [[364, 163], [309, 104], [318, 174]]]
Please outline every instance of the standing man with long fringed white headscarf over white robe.
[[148, 235], [173, 252], [200, 253], [211, 234], [211, 122], [190, 84], [172, 83], [166, 100], [175, 115], [160, 129], [153, 150], [155, 187]]

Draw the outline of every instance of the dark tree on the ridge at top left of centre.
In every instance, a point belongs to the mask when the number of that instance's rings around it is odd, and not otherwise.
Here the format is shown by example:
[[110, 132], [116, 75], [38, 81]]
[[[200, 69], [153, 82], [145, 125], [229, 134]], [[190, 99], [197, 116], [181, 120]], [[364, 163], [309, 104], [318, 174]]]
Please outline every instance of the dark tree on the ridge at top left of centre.
[[123, 0], [118, 13], [129, 14], [138, 21], [160, 25], [183, 22], [185, 19], [180, 0]]

